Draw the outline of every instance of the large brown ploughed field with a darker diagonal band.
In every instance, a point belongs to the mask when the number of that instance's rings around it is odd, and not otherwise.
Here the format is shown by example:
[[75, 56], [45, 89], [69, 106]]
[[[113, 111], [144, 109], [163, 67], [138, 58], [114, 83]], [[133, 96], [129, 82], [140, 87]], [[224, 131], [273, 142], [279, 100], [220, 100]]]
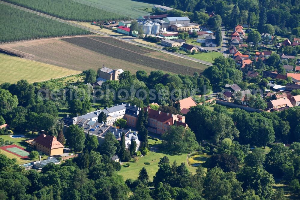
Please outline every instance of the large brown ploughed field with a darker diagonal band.
[[201, 73], [207, 65], [182, 59], [167, 53], [101, 36], [79, 36], [62, 39], [42, 39], [15, 44], [0, 44], [0, 48], [27, 59], [76, 71], [97, 70], [104, 64], [135, 73], [162, 70], [171, 73]]

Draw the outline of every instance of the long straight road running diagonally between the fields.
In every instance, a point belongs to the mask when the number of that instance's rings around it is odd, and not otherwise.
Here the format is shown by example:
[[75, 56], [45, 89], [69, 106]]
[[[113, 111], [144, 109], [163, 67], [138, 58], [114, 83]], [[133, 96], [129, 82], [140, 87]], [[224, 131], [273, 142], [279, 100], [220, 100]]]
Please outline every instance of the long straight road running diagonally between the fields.
[[188, 59], [188, 60], [192, 60], [192, 61], [195, 61], [195, 62], [199, 62], [199, 63], [202, 63], [202, 64], [205, 64], [205, 65], [212, 65], [211, 62], [206, 62], [204, 60], [200, 60], [200, 59], [196, 59], [196, 58], [192, 58], [192, 57], [188, 57], [188, 56], [185, 56], [185, 55], [180, 55], [178, 53], [173, 53], [173, 52], [169, 52], [169, 51], [166, 51], [166, 50], [162, 50], [162, 49], [159, 49], [159, 48], [156, 48], [156, 47], [150, 47], [146, 44], [141, 44], [141, 43], [138, 43], [138, 42], [134, 42], [134, 41], [131, 41], [134, 39], [134, 37], [131, 37], [131, 36], [128, 36], [126, 38], [119, 38], [119, 37], [116, 37], [116, 36], [112, 36], [112, 35], [109, 35], [109, 34], [106, 34], [106, 33], [103, 33], [103, 32], [100, 32], [98, 30], [95, 30], [95, 29], [91, 29], [91, 28], [88, 28], [86, 26], [82, 26], [82, 25], [79, 25], [79, 24], [76, 24], [76, 23], [71, 23], [67, 20], [62, 20], [62, 19], [59, 19], [57, 17], [52, 17], [50, 15], [47, 15], [47, 14], [44, 14], [44, 13], [41, 13], [41, 12], [38, 12], [38, 11], [33, 11], [33, 10], [30, 10], [28, 8], [23, 8], [21, 6], [17, 6], [17, 5], [14, 5], [14, 4], [11, 4], [11, 3], [7, 3], [7, 2], [3, 2], [0, 0], [0, 3], [1, 4], [4, 4], [4, 5], [8, 5], [8, 6], [11, 6], [11, 7], [14, 7], [14, 8], [18, 8], [20, 10], [24, 10], [24, 11], [27, 11], [27, 12], [30, 12], [30, 13], [35, 13], [37, 15], [41, 15], [43, 17], [47, 17], [49, 19], [52, 19], [52, 20], [56, 20], [56, 21], [59, 21], [59, 22], [62, 22], [62, 23], [66, 23], [66, 24], [69, 24], [71, 26], [76, 26], [76, 27], [80, 27], [82, 29], [86, 29], [90, 32], [93, 32], [93, 33], [96, 33], [96, 34], [100, 34], [100, 35], [104, 35], [104, 36], [109, 36], [109, 37], [112, 37], [112, 38], [115, 38], [115, 39], [118, 39], [118, 40], [122, 40], [122, 41], [126, 41], [126, 42], [129, 42], [131, 44], [135, 44], [135, 45], [139, 45], [139, 46], [143, 46], [143, 47], [147, 47], [149, 49], [152, 49], [152, 50], [157, 50], [157, 51], [161, 51], [161, 52], [164, 52], [164, 53], [168, 53], [168, 54], [171, 54], [171, 55], [174, 55], [174, 56], [177, 56], [177, 57], [181, 57], [181, 58], [185, 58], [185, 59]]

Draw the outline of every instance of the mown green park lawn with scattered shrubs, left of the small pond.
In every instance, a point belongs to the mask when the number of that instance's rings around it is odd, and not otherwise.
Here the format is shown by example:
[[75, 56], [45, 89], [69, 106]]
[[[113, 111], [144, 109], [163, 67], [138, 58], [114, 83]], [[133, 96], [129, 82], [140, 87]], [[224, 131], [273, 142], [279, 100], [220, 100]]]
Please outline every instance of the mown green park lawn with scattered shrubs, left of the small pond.
[[[167, 156], [170, 159], [170, 164], [172, 164], [174, 160], [176, 160], [177, 165], [180, 165], [182, 162], [184, 162], [192, 173], [195, 173], [197, 169], [196, 167], [188, 165], [187, 154], [170, 156], [164, 153], [149, 152], [147, 156], [138, 157], [139, 161], [137, 162], [124, 162], [121, 170], [118, 173], [124, 177], [124, 180], [128, 178], [137, 179], [139, 171], [145, 167], [149, 173], [150, 180], [153, 180], [153, 176], [155, 176], [155, 173], [158, 171], [158, 162], [160, 158], [164, 156]], [[145, 165], [144, 162], [149, 162], [150, 165]], [[129, 163], [130, 166], [124, 167], [126, 163]]]

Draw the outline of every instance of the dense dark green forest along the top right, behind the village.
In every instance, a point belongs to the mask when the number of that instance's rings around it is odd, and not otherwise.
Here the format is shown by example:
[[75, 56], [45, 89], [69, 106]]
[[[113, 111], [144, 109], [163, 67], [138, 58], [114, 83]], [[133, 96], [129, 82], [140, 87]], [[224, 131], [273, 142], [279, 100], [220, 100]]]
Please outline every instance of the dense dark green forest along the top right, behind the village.
[[[237, 24], [247, 23], [254, 28], [263, 29], [263, 25], [274, 26], [276, 35], [297, 35], [300, 27], [299, 0], [146, 0], [146, 2], [169, 6], [185, 11], [199, 24], [209, 23], [207, 12], [220, 15], [222, 21], [233, 28]], [[158, 12], [158, 11], [156, 11]], [[179, 14], [178, 11], [168, 11]], [[294, 29], [294, 30], [293, 30]]]

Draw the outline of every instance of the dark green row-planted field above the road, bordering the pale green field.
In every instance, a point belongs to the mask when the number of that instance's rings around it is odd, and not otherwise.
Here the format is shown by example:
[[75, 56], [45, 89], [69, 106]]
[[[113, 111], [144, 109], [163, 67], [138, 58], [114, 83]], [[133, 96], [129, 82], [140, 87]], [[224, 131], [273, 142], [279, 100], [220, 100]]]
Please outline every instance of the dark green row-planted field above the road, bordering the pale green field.
[[125, 20], [125, 15], [102, 9], [99, 5], [92, 7], [71, 0], [5, 0], [25, 8], [39, 11], [64, 20], [74, 21], [104, 21]]

